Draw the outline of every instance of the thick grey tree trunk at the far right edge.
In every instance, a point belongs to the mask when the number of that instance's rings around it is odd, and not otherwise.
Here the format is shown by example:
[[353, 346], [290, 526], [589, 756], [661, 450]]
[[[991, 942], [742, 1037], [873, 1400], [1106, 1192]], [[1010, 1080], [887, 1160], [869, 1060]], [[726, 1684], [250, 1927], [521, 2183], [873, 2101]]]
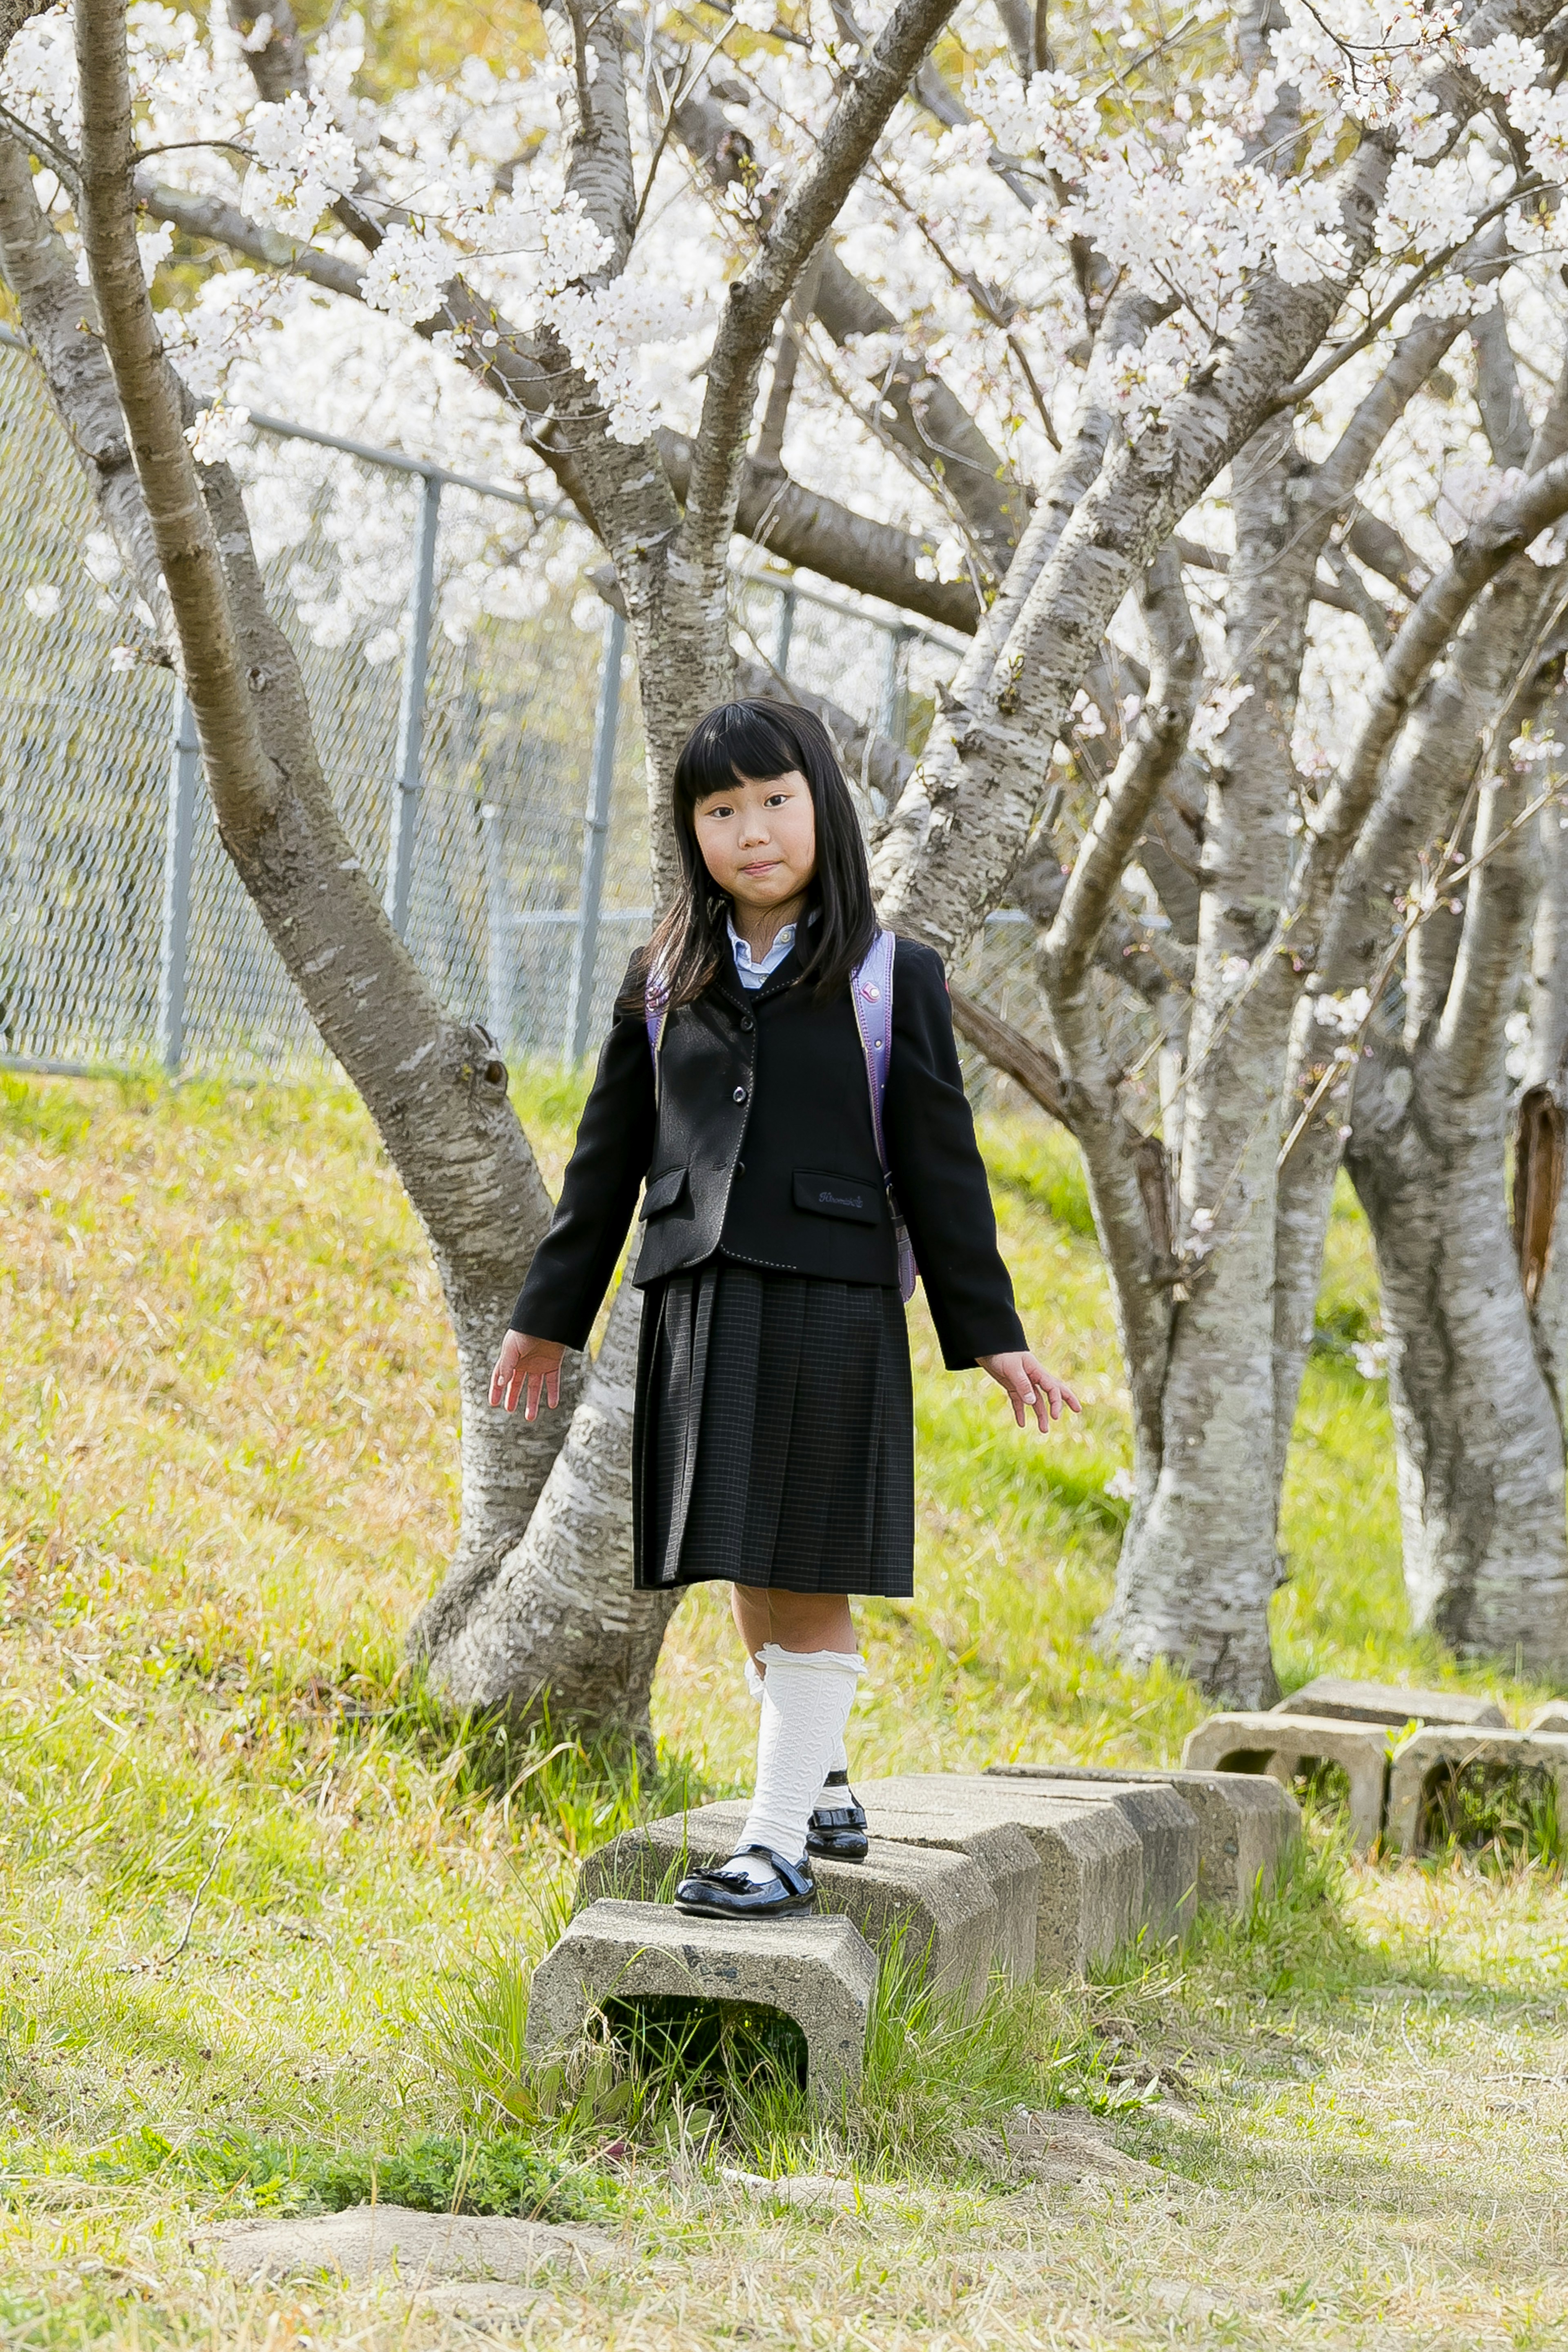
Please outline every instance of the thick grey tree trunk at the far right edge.
[[1361, 1063], [1347, 1164], [1378, 1249], [1410, 1613], [1542, 1672], [1568, 1663], [1568, 1529], [1505, 1185], [1502, 1042], [1540, 887], [1535, 833], [1507, 830], [1523, 793], [1507, 774], [1481, 795], [1441, 1011]]

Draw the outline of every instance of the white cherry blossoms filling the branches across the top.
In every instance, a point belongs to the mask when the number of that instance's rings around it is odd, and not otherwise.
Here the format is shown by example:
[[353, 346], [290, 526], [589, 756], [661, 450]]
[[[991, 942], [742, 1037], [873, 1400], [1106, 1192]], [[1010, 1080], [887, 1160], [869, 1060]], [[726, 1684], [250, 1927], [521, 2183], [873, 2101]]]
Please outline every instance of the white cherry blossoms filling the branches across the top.
[[[856, 7], [865, 38], [889, 5]], [[1568, 85], [1554, 87], [1561, 59], [1516, 35], [1472, 49], [1448, 0], [1286, 0], [1286, 19], [1262, 71], [1244, 71], [1225, 0], [1197, 0], [1171, 21], [1145, 0], [1086, 0], [1053, 28], [1051, 71], [1030, 73], [1009, 54], [994, 9], [964, 0], [929, 68], [950, 103], [938, 113], [910, 101], [893, 115], [830, 240], [835, 266], [875, 296], [889, 325], [846, 341], [820, 327], [804, 334], [785, 468], [825, 499], [910, 532], [919, 579], [961, 583], [983, 567], [952, 494], [950, 454], [933, 430], [922, 463], [893, 430], [896, 379], [907, 379], [912, 360], [940, 372], [1023, 510], [1086, 407], [1107, 407], [1131, 442], [1171, 428], [1194, 372], [1234, 346], [1269, 278], [1324, 285], [1331, 306], [1342, 299], [1331, 346], [1356, 343], [1368, 320], [1385, 320], [1302, 407], [1307, 454], [1333, 447], [1375, 383], [1389, 336], [1415, 315], [1479, 327], [1500, 306], [1521, 355], [1547, 355], [1540, 379], [1528, 365], [1521, 372], [1537, 423], [1563, 339], [1552, 193], [1568, 176]], [[578, 61], [559, 9], [543, 12], [543, 54], [468, 56], [447, 80], [421, 78], [374, 99], [364, 26], [341, 12], [308, 45], [310, 94], [268, 103], [252, 73], [266, 21], [247, 45], [223, 9], [132, 5], [139, 143], [160, 151], [146, 174], [221, 198], [259, 228], [360, 270], [360, 299], [299, 270], [230, 261], [221, 247], [193, 270], [181, 245], [176, 273], [172, 230], [143, 223], [160, 322], [202, 405], [190, 445], [202, 463], [240, 468], [266, 555], [292, 564], [296, 607], [322, 642], [360, 642], [371, 661], [397, 656], [407, 485], [346, 475], [301, 445], [275, 445], [252, 430], [252, 414], [411, 449], [527, 489], [548, 510], [555, 485], [487, 367], [489, 353], [552, 329], [597, 386], [614, 435], [639, 442], [654, 428], [691, 433], [698, 423], [724, 285], [811, 169], [858, 49], [846, 12], [827, 0], [797, 0], [785, 16], [773, 0], [738, 0], [710, 61], [708, 103], [745, 136], [752, 169], [719, 193], [670, 136], [661, 96], [672, 68], [693, 68], [719, 35], [698, 47], [646, 0], [625, 0], [621, 21], [642, 212], [616, 273], [611, 238], [567, 191]], [[1439, 68], [1469, 75], [1505, 111], [1512, 139], [1486, 113], [1455, 132], [1434, 96]], [[592, 87], [592, 52], [585, 71]], [[0, 96], [42, 141], [75, 146], [63, 7], [16, 35]], [[1338, 174], [1363, 134], [1394, 153], [1361, 263]], [[1533, 205], [1509, 205], [1519, 155], [1549, 183]], [[71, 233], [66, 181], [49, 181], [45, 167], [40, 186]], [[374, 252], [336, 216], [343, 198], [378, 223]], [[1502, 207], [1502, 259], [1469, 268], [1467, 240], [1493, 207]], [[1074, 259], [1084, 247], [1119, 289], [1159, 306], [1145, 334], [1091, 348]], [[458, 278], [461, 318], [449, 310]], [[917, 383], [907, 400], [917, 421], [929, 405]], [[1488, 447], [1476, 355], [1460, 334], [1443, 381], [1387, 437], [1361, 503], [1436, 572], [1514, 480]], [[574, 520], [536, 529], [522, 508], [508, 517], [447, 494], [442, 626], [451, 633], [484, 614], [541, 612], [588, 560]], [[1232, 550], [1225, 480], [1182, 532]], [[1556, 539], [1533, 553], [1561, 557]], [[1222, 755], [1253, 689], [1237, 682], [1225, 644], [1222, 579], [1190, 572], [1187, 586], [1208, 656], [1192, 750], [1208, 760]], [[1375, 579], [1368, 593], [1375, 604], [1389, 597]], [[1131, 609], [1117, 616], [1114, 637], [1143, 644]], [[1375, 666], [1363, 621], [1314, 607], [1295, 710], [1298, 828], [1335, 774]], [[1117, 696], [1079, 696], [1070, 736], [1107, 762], [1133, 722], [1126, 696], [1121, 708]], [[1060, 757], [1072, 764], [1077, 753], [1065, 746]]]

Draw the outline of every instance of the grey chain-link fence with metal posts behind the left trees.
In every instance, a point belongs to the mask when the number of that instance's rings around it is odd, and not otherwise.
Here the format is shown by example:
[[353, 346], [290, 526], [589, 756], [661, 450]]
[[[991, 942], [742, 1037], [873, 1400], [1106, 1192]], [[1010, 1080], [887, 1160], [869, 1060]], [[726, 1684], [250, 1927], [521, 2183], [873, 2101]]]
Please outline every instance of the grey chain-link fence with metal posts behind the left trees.
[[[642, 727], [581, 534], [520, 492], [256, 419], [273, 612], [367, 873], [442, 1000], [581, 1054], [646, 931]], [[219, 842], [190, 715], [33, 360], [0, 341], [0, 1061], [308, 1073], [322, 1044]], [[957, 644], [795, 583], [736, 619], [900, 739]]]

